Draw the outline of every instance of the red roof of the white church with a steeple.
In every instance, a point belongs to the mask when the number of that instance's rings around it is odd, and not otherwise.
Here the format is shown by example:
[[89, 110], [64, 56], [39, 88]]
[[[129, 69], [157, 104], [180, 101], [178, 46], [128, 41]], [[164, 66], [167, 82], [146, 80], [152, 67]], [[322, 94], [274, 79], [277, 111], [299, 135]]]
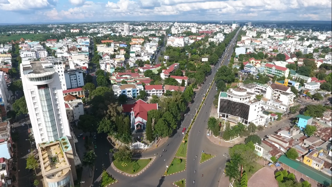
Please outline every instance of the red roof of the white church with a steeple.
[[158, 109], [158, 104], [156, 103], [146, 103], [145, 101], [138, 99], [133, 104], [123, 104], [123, 112], [128, 113], [134, 111], [135, 118], [140, 117], [147, 120], [147, 112], [150, 110]]

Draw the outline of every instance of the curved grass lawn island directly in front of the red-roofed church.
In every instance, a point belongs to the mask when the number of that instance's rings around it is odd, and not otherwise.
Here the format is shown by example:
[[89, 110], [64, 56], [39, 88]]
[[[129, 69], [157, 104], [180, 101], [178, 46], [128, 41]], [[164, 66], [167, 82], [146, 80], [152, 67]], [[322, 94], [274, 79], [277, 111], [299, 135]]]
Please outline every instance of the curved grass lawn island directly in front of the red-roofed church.
[[131, 160], [127, 166], [122, 165], [122, 163], [117, 162], [113, 157], [113, 163], [115, 167], [124, 171], [126, 173], [135, 174], [142, 170], [151, 160], [150, 159], [139, 159], [139, 160]]

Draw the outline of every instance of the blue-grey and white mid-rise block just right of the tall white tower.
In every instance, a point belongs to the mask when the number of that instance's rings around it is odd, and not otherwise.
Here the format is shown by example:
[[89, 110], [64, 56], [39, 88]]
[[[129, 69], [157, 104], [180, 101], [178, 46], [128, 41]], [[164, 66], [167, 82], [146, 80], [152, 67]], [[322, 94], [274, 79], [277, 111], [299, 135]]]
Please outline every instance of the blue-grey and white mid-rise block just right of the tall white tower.
[[68, 70], [64, 72], [66, 89], [73, 89], [84, 86], [84, 78], [82, 70]]

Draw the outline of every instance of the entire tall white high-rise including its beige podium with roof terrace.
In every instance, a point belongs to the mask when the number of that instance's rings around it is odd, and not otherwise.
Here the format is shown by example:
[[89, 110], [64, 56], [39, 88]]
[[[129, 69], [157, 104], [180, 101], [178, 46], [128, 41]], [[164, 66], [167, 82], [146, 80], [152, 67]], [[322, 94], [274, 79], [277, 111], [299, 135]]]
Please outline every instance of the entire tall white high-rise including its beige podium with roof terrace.
[[59, 72], [53, 64], [25, 61], [20, 65], [20, 73], [36, 145], [42, 158], [44, 186], [69, 187], [77, 179], [75, 166], [81, 161], [75, 148], [78, 141], [70, 131], [66, 115]]

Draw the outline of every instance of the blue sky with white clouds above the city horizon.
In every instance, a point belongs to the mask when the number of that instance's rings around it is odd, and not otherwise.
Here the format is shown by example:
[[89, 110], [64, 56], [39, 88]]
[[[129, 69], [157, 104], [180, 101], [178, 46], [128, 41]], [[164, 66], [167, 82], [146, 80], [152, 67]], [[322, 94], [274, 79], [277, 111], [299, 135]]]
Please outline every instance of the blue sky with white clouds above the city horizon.
[[332, 20], [332, 0], [0, 0], [0, 23]]

